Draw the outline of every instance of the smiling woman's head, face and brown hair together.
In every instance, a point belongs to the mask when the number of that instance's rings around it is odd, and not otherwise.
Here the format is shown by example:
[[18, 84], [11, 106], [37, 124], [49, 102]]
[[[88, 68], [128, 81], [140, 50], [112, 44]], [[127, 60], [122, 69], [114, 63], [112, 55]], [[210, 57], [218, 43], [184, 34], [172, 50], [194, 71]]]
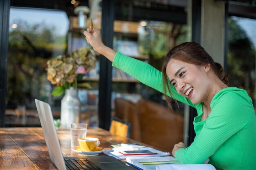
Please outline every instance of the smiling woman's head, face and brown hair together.
[[[193, 104], [204, 102], [208, 108], [213, 96], [229, 85], [228, 75], [222, 66], [214, 62], [202, 46], [195, 42], [182, 43], [171, 49], [164, 60], [162, 73], [168, 93], [171, 94], [172, 84], [180, 95], [189, 98]], [[168, 78], [171, 79], [170, 84]], [[196, 96], [192, 96], [194, 91]], [[167, 95], [165, 98], [171, 107]]]

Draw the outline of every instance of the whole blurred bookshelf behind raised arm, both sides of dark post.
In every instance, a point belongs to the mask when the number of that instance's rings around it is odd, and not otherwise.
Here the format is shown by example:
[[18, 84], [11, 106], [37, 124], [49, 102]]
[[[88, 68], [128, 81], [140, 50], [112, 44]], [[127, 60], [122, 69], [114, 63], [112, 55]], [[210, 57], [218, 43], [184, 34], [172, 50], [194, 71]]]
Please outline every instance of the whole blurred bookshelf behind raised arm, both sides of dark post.
[[[86, 26], [80, 28], [77, 24], [77, 18], [70, 17], [68, 51], [71, 52], [83, 46], [89, 46], [83, 35], [83, 31], [87, 29], [87, 26], [90, 26], [89, 19], [86, 20]], [[94, 22], [94, 27], [101, 29], [101, 22]], [[115, 20], [113, 49], [130, 57], [148, 62], [149, 55], [139, 51], [138, 28], [138, 22]], [[99, 60], [97, 61], [96, 67], [90, 72], [85, 73], [79, 82], [87, 82], [92, 86], [92, 89], [80, 89], [79, 91], [82, 109], [97, 111], [99, 97], [99, 91], [97, 90], [99, 86]], [[112, 68], [112, 110], [115, 110], [114, 99], [116, 97], [122, 97], [131, 102], [137, 102], [141, 99], [141, 95], [138, 93], [139, 90], [137, 90], [137, 84], [141, 84], [137, 79], [118, 68]]]

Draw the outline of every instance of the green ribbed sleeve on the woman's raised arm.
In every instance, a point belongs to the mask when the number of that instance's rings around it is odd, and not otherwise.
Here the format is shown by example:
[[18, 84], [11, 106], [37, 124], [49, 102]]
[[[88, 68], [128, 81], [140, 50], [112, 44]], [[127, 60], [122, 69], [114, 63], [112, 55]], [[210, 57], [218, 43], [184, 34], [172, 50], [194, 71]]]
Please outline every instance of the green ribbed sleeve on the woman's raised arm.
[[[113, 60], [112, 66], [121, 69], [122, 71], [131, 75], [143, 84], [146, 84], [147, 86], [150, 86], [155, 90], [163, 93], [162, 72], [157, 70], [150, 64], [117, 52]], [[179, 95], [173, 86], [171, 86], [171, 93], [171, 95], [169, 93], [167, 95], [173, 97], [180, 102], [195, 107], [188, 98]]]

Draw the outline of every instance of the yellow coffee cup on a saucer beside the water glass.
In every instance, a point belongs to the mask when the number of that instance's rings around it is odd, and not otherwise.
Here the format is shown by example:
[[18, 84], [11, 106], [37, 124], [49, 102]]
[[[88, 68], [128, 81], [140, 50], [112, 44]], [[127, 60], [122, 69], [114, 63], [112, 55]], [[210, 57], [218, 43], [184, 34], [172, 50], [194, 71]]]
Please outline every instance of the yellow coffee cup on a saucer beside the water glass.
[[99, 146], [100, 141], [98, 138], [95, 137], [83, 137], [78, 139], [79, 146], [82, 151], [85, 152], [92, 152], [94, 151], [97, 146]]

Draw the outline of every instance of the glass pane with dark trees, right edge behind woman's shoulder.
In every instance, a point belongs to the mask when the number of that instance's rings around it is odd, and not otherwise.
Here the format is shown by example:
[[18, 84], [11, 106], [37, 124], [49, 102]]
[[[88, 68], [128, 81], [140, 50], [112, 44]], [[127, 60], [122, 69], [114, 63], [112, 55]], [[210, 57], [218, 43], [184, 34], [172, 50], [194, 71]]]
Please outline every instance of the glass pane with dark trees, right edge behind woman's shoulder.
[[255, 107], [256, 20], [231, 16], [228, 23], [227, 66], [231, 86], [245, 89]]

